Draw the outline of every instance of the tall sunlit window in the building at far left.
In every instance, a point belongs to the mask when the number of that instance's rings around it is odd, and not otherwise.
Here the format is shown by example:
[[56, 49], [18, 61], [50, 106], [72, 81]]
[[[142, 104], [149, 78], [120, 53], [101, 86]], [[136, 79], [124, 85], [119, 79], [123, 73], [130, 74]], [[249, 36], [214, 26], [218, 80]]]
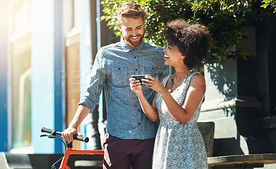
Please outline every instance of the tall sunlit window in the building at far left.
[[24, 148], [31, 146], [31, 1], [12, 1], [10, 6], [11, 148]]

